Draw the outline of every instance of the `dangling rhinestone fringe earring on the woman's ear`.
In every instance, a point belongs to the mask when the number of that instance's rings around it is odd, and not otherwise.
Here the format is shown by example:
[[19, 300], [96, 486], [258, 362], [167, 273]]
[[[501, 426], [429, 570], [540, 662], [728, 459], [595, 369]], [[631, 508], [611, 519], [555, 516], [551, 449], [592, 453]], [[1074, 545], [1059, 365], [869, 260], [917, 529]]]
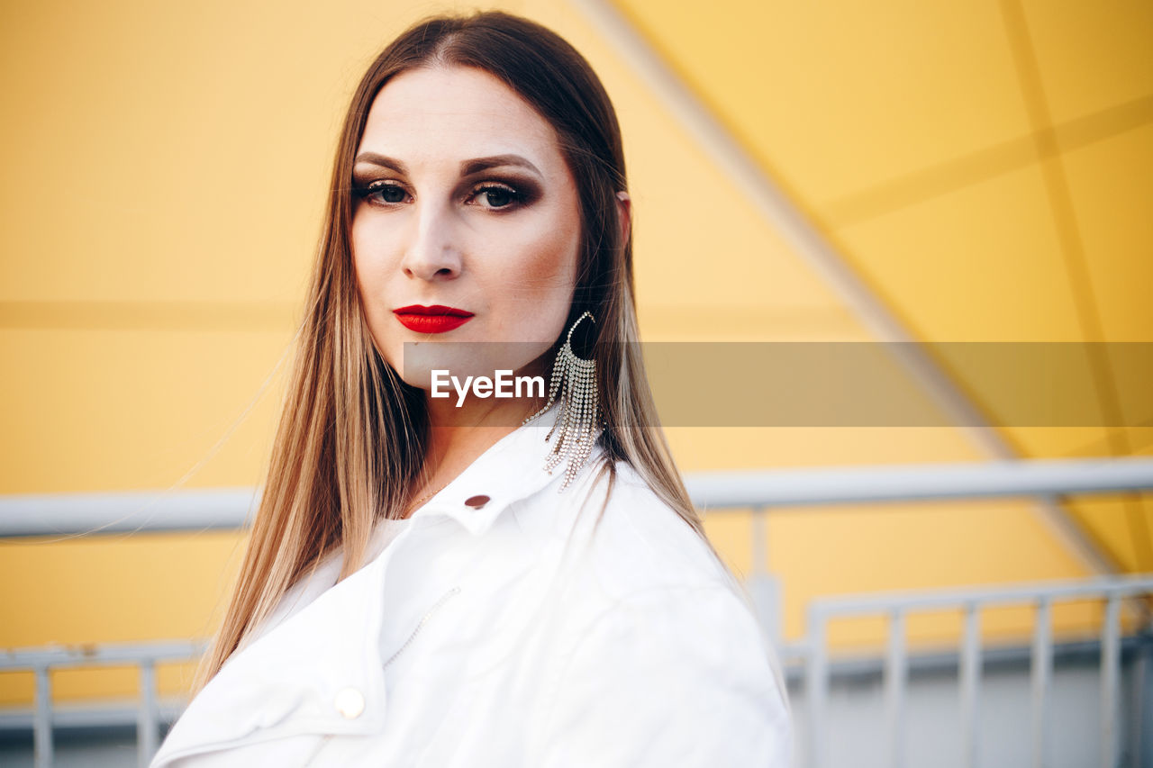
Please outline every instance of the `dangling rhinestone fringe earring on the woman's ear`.
[[544, 407], [521, 422], [527, 424], [549, 409], [557, 398], [557, 392], [564, 386], [560, 394], [560, 407], [557, 412], [557, 421], [552, 429], [544, 436], [544, 442], [549, 442], [553, 432], [557, 432], [557, 444], [552, 446], [544, 468], [549, 474], [565, 459], [568, 466], [565, 468], [565, 479], [560, 483], [564, 490], [573, 481], [580, 468], [585, 466], [589, 453], [593, 452], [593, 429], [600, 421], [597, 409], [596, 392], [596, 360], [581, 360], [573, 353], [573, 331], [585, 318], [595, 323], [596, 318], [590, 313], [585, 313], [576, 318], [576, 322], [568, 329], [565, 344], [557, 353], [557, 360], [552, 364], [552, 379], [549, 383], [549, 401]]

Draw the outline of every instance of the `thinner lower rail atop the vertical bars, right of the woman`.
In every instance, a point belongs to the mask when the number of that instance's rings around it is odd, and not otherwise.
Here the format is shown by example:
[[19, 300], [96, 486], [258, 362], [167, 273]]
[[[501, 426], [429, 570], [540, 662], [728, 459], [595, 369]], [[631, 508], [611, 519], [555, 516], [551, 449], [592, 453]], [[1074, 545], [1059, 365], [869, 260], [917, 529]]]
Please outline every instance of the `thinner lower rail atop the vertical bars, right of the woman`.
[[1131, 597], [1153, 593], [1153, 574], [1137, 573], [1088, 580], [1043, 581], [1020, 583], [1011, 587], [988, 589], [948, 589], [889, 592], [867, 595], [816, 597], [811, 610], [824, 618], [832, 616], [860, 616], [890, 611], [895, 608], [909, 610], [936, 610], [963, 608], [969, 603], [980, 605], [1033, 603], [1045, 597], [1053, 601]]

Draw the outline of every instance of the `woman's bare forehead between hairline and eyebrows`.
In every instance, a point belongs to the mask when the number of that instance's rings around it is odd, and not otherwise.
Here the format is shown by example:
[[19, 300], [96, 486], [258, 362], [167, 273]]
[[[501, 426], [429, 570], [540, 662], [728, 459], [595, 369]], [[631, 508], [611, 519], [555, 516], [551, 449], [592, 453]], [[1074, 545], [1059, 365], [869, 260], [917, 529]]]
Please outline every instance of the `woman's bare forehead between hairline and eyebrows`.
[[[377, 93], [357, 152], [416, 161], [518, 153], [560, 161], [556, 131], [520, 95], [473, 67], [401, 73]], [[543, 170], [543, 168], [542, 168]]]

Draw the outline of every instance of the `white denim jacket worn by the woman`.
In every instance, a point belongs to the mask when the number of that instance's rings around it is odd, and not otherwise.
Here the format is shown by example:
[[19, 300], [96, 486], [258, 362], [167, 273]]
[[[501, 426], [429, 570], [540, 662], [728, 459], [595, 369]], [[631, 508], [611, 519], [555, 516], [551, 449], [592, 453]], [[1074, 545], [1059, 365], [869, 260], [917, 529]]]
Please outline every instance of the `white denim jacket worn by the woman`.
[[628, 465], [591, 535], [603, 452], [558, 492], [555, 412], [378, 528], [356, 573], [336, 583], [338, 552], [294, 586], [151, 768], [789, 766], [747, 601]]

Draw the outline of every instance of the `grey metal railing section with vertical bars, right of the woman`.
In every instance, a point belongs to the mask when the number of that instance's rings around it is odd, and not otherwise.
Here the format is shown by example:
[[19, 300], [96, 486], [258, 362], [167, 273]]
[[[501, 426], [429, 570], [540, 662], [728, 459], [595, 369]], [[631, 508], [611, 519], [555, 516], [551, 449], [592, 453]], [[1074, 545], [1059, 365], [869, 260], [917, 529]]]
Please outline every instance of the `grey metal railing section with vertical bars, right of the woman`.
[[[806, 732], [802, 762], [823, 768], [826, 695], [829, 686], [828, 622], [836, 617], [881, 616], [889, 620], [889, 640], [882, 670], [886, 701], [888, 760], [904, 768], [905, 693], [910, 648], [906, 620], [911, 612], [929, 609], [964, 610], [958, 683], [964, 758], [975, 768], [978, 754], [979, 692], [981, 680], [980, 618], [988, 605], [1018, 603], [1038, 608], [1031, 658], [1033, 722], [1031, 746], [1034, 768], [1050, 765], [1048, 744], [1048, 697], [1053, 669], [1052, 607], [1055, 602], [1098, 596], [1106, 600], [1101, 632], [1100, 765], [1116, 765], [1117, 686], [1120, 677], [1120, 610], [1122, 600], [1153, 593], [1153, 577], [1106, 578], [1076, 583], [1034, 583], [1008, 588], [948, 590], [868, 596], [815, 598], [806, 610], [806, 637], [785, 642], [782, 637], [781, 588], [771, 575], [766, 548], [767, 515], [774, 507], [970, 499], [995, 497], [1046, 497], [1153, 489], [1153, 460], [1067, 459], [990, 461], [915, 467], [853, 467], [793, 472], [717, 472], [686, 479], [698, 506], [719, 511], [747, 509], [751, 518], [752, 569], [747, 579], [751, 595], [782, 658], [804, 669]], [[1153, 702], [1147, 702], [1146, 706]], [[1153, 755], [1151, 755], [1153, 758]]]

